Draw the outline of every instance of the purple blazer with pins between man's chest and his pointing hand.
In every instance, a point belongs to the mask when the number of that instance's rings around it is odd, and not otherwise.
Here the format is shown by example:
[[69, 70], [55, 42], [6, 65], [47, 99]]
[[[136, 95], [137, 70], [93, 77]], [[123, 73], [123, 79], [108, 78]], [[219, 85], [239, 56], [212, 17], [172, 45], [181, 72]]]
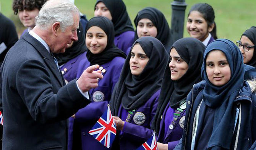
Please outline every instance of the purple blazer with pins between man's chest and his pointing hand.
[[[63, 74], [66, 82], [67, 81], [70, 82], [77, 77], [78, 65], [79, 65], [80, 61], [85, 58], [86, 58], [86, 52], [69, 60], [68, 62], [66, 62], [64, 65], [62, 65], [60, 67], [60, 70], [62, 71], [62, 74]], [[80, 77], [80, 76], [78, 76], [78, 77]]]

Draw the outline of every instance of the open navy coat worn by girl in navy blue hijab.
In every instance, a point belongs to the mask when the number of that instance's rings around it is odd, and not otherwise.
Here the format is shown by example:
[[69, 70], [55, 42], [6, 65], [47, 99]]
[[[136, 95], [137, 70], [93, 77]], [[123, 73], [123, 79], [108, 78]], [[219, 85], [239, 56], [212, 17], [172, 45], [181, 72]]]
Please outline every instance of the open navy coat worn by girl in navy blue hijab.
[[[179, 141], [178, 145], [175, 147], [174, 150], [190, 150], [191, 149], [191, 140], [192, 137], [190, 136], [192, 133], [192, 127], [187, 126], [188, 122], [191, 121], [190, 116], [194, 115], [196, 113], [196, 109], [199, 106], [201, 100], [202, 100], [202, 85], [195, 84], [190, 91], [190, 93], [187, 96], [187, 105], [186, 105], [186, 118], [185, 118], [185, 126], [183, 130], [183, 137]], [[255, 93], [251, 94], [251, 98], [248, 96], [238, 95], [236, 99], [234, 99], [236, 103], [241, 103], [241, 124], [240, 126], [243, 126], [246, 128], [243, 128], [244, 130], [240, 130], [235, 136], [238, 136], [238, 145], [237, 150], [248, 150], [253, 142], [256, 140], [256, 96]], [[248, 109], [248, 101], [251, 101]], [[248, 110], [250, 111], [248, 113]], [[243, 113], [244, 112], [244, 113]], [[193, 120], [193, 118], [192, 118]], [[251, 123], [247, 123], [248, 120]], [[193, 123], [192, 123], [193, 124]], [[236, 138], [233, 138], [234, 140]], [[235, 141], [232, 141], [232, 143], [235, 143]]]

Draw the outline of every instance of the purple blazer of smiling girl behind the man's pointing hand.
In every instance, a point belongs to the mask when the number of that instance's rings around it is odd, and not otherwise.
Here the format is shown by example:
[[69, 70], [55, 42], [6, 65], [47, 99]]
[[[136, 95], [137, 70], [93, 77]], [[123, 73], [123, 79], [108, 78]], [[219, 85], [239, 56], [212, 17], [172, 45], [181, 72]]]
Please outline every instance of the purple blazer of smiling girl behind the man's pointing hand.
[[[105, 73], [102, 73], [104, 77], [99, 80], [97, 88], [89, 90], [91, 99], [97, 103], [90, 103], [87, 105], [88, 107], [80, 109], [75, 114], [76, 119], [69, 119], [68, 150], [72, 150], [72, 147], [77, 147], [73, 142], [78, 140], [81, 140], [80, 149], [91, 150], [93, 147], [95, 150], [107, 150], [106, 147], [100, 144], [88, 132], [107, 108], [107, 104], [110, 101], [113, 88], [118, 81], [124, 62], [124, 58], [115, 57], [112, 61], [100, 65], [106, 70]], [[79, 63], [77, 77], [81, 76], [88, 66], [90, 66], [90, 62], [86, 57]], [[73, 136], [73, 133], [77, 132], [77, 130], [79, 130], [80, 137]], [[76, 148], [73, 150], [76, 150]]]

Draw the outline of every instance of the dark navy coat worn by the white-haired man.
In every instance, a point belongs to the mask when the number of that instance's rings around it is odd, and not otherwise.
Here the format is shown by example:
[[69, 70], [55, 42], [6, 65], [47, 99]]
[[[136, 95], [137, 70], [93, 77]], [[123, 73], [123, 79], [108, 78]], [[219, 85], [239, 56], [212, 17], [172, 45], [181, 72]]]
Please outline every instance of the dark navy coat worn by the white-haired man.
[[28, 32], [8, 51], [1, 81], [3, 150], [66, 150], [65, 119], [90, 101], [76, 80], [65, 85], [53, 57]]

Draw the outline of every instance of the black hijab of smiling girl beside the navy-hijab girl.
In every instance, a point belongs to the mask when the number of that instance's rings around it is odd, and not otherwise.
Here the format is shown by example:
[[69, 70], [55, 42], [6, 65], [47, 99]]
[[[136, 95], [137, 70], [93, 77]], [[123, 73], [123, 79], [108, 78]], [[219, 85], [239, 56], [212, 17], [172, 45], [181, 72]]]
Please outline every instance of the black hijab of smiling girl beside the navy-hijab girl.
[[157, 111], [152, 123], [152, 128], [156, 130], [157, 134], [165, 107], [168, 104], [172, 108], [179, 106], [181, 101], [186, 99], [193, 85], [202, 80], [200, 71], [203, 64], [204, 44], [196, 38], [182, 38], [173, 43], [173, 47], [188, 64], [188, 70], [180, 79], [173, 81], [169, 67], [170, 60], [165, 67]]

